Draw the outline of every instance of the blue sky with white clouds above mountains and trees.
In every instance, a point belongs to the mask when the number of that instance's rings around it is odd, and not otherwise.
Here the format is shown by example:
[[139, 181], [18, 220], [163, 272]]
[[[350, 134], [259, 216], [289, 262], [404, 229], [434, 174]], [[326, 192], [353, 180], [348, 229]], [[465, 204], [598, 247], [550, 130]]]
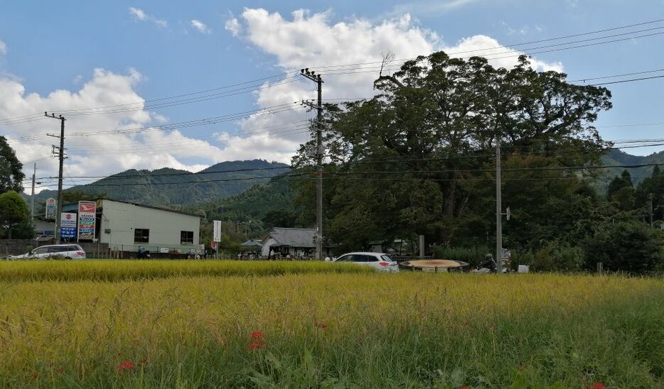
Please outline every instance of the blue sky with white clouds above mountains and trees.
[[[60, 126], [43, 112], [63, 114], [65, 186], [127, 169], [196, 172], [254, 158], [288, 163], [309, 137], [306, 120], [313, 117], [298, 102], [316, 98], [314, 82], [297, 75], [301, 67], [323, 75], [323, 99], [330, 101], [370, 97], [378, 70], [358, 64], [388, 52], [397, 60], [437, 50], [488, 54], [505, 67], [528, 53], [533, 67], [565, 72], [579, 84], [664, 75], [664, 21], [658, 21], [664, 1], [635, 4], [5, 1], [0, 135], [9, 138], [26, 177], [33, 163], [38, 177], [54, 176], [51, 145], [58, 139], [45, 134]], [[643, 24], [614, 29], [637, 23]], [[595, 44], [606, 40], [616, 41]], [[540, 42], [520, 45], [532, 41]], [[559, 50], [570, 45], [584, 47]], [[606, 140], [663, 137], [664, 78], [606, 87], [614, 109], [596, 122]], [[53, 183], [44, 181], [42, 187]]]

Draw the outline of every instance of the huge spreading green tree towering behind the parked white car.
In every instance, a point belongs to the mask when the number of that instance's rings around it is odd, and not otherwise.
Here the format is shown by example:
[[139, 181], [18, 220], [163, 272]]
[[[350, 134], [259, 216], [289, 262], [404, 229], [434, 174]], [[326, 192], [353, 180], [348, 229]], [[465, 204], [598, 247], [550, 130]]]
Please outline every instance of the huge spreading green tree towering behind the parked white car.
[[[323, 119], [330, 160], [326, 235], [349, 248], [396, 235], [424, 234], [444, 243], [493, 236], [498, 134], [503, 155], [528, 172], [511, 172], [514, 181], [505, 185], [513, 192], [535, 190], [532, 182], [544, 180], [537, 196], [513, 204], [523, 217], [535, 217], [543, 201], [580, 190], [587, 172], [577, 167], [596, 163], [606, 146], [591, 124], [611, 108], [609, 91], [569, 84], [559, 72], [537, 72], [526, 57], [505, 69], [482, 57], [433, 53], [405, 62], [374, 86], [379, 93], [373, 99], [328, 105]], [[310, 148], [303, 145], [294, 157], [300, 171], [314, 165]], [[542, 159], [528, 160], [533, 154]], [[518, 181], [524, 176], [533, 181]], [[314, 209], [308, 178], [294, 180], [297, 198]]]

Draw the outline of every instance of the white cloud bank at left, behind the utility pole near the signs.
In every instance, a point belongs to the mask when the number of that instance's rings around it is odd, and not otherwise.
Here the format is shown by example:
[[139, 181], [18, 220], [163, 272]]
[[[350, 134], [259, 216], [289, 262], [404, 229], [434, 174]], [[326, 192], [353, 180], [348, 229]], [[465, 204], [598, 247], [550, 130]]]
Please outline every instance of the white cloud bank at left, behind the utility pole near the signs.
[[[65, 112], [68, 159], [65, 177], [73, 175], [108, 175], [130, 168], [177, 168], [198, 171], [209, 164], [220, 162], [222, 150], [210, 142], [183, 135], [180, 131], [151, 131], [122, 135], [89, 136], [92, 131], [122, 131], [127, 128], [149, 126], [167, 119], [144, 109], [145, 100], [135, 92], [144, 77], [136, 70], [126, 75], [104, 69], [95, 69], [92, 79], [79, 90], [59, 89], [41, 96], [26, 92], [23, 84], [0, 76], [0, 118], [11, 118], [43, 111]], [[108, 114], [74, 115], [66, 111], [89, 109], [117, 104], [136, 104], [136, 111], [117, 111]], [[58, 172], [55, 158], [50, 158], [53, 138], [42, 137], [21, 140], [26, 136], [43, 136], [59, 129], [58, 122], [43, 118], [16, 124], [0, 124], [0, 132], [10, 140], [18, 158], [31, 167], [37, 161], [40, 177], [54, 176]], [[86, 136], [87, 135], [87, 136]], [[194, 159], [196, 158], [196, 159]], [[198, 160], [186, 163], [186, 160]], [[202, 163], [201, 163], [202, 162]], [[65, 184], [68, 181], [65, 181]]]

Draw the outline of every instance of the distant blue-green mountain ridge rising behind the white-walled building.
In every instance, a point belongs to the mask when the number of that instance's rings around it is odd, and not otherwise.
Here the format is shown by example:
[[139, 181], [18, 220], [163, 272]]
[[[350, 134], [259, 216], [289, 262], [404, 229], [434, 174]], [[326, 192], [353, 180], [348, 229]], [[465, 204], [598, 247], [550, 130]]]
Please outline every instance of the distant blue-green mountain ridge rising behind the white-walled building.
[[[109, 199], [138, 204], [181, 207], [237, 195], [288, 171], [288, 165], [267, 160], [222, 162], [196, 173], [171, 168], [152, 171], [132, 169], [92, 184], [70, 187], [65, 192], [104, 195]], [[40, 192], [36, 195], [36, 202], [43, 202], [48, 197], [57, 197], [57, 191]]]

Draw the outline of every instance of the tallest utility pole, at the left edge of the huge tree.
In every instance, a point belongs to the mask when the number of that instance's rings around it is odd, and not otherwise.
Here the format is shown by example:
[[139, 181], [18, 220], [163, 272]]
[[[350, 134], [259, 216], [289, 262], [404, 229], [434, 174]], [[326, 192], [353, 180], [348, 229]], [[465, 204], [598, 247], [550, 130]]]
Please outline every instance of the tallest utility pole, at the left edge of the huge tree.
[[316, 259], [323, 261], [323, 78], [314, 75], [309, 67], [300, 70], [300, 74], [316, 82], [318, 88], [318, 116], [316, 116], [316, 164], [318, 179], [316, 180]]

